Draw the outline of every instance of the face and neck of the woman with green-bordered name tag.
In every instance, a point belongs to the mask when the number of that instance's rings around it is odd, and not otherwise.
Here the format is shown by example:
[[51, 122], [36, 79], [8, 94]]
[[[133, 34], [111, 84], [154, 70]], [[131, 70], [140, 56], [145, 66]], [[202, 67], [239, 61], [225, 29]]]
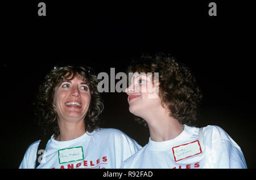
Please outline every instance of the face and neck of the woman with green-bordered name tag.
[[[73, 139], [71, 134], [80, 136], [85, 133], [85, 128], [83, 128], [80, 131], [80, 135], [74, 134], [77, 131], [73, 131], [76, 128], [72, 127], [72, 125], [77, 126], [77, 123], [81, 123], [80, 127], [85, 127], [84, 119], [88, 112], [90, 98], [89, 87], [82, 81], [80, 76], [75, 76], [72, 80], [65, 80], [59, 87], [55, 87], [53, 103], [58, 114], [58, 125], [59, 127], [63, 126], [62, 128], [60, 127], [60, 130], [65, 130], [64, 132], [66, 132], [61, 133], [56, 138], [57, 140], [70, 140]], [[73, 123], [74, 121], [76, 124]]]

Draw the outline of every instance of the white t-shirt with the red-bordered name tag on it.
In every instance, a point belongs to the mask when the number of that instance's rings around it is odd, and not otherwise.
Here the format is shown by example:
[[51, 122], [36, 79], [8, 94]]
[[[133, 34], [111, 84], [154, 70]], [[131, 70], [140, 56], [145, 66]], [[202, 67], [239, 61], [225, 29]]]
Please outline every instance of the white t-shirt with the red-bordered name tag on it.
[[241, 148], [222, 128], [204, 127], [204, 143], [200, 145], [199, 128], [184, 126], [174, 139], [149, 139], [121, 168], [247, 168]]

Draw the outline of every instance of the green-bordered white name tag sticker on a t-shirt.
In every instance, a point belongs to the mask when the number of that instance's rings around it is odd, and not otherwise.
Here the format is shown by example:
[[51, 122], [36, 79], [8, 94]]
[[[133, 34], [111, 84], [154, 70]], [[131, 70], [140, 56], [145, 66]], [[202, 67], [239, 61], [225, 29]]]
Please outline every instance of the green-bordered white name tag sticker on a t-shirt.
[[82, 147], [60, 149], [58, 155], [60, 164], [84, 159], [84, 151], [82, 151]]

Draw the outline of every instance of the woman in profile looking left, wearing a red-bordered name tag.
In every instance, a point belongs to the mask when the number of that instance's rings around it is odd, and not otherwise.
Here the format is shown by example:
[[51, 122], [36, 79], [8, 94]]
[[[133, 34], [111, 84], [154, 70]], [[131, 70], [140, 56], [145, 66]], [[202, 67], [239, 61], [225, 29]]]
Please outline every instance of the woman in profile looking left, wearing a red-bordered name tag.
[[121, 168], [246, 168], [222, 128], [193, 126], [202, 95], [189, 68], [158, 54], [143, 55], [127, 72], [135, 72], [126, 89], [129, 111], [148, 126], [150, 139]]

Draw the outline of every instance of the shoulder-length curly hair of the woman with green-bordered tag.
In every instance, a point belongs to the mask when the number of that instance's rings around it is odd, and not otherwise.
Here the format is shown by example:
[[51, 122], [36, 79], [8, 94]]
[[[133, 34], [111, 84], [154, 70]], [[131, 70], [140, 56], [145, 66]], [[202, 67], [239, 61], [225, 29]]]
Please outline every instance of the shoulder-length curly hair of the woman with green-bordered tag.
[[75, 76], [80, 76], [82, 80], [88, 82], [90, 89], [90, 105], [85, 116], [85, 130], [92, 132], [99, 127], [99, 115], [104, 109], [100, 92], [98, 92], [98, 79], [89, 67], [65, 66], [55, 67], [46, 76], [42, 85], [39, 86], [39, 92], [35, 102], [35, 118], [39, 126], [42, 127], [44, 135], [59, 136], [60, 130], [57, 121], [58, 117], [56, 107], [53, 104], [55, 87], [61, 85], [63, 80], [72, 80]]

